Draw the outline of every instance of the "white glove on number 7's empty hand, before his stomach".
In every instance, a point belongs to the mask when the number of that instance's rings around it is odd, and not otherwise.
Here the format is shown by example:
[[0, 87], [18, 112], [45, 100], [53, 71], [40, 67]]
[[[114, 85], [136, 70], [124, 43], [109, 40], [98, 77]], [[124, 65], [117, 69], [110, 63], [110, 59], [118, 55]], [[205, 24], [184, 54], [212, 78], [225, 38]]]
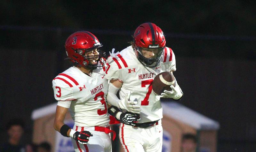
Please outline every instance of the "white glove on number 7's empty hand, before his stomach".
[[129, 101], [131, 96], [131, 91], [126, 95], [126, 97], [118, 102], [118, 105], [121, 109], [126, 110], [128, 112], [134, 114], [140, 114], [140, 106], [136, 106], [138, 104], [137, 101]]

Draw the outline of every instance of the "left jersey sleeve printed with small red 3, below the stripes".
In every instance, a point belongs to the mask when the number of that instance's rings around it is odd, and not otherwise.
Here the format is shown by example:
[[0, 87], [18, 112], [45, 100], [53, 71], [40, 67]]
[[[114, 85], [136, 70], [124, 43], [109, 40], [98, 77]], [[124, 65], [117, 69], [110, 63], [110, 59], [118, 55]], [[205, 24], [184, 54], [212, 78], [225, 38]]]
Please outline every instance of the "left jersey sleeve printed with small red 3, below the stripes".
[[71, 87], [60, 79], [52, 80], [54, 97], [58, 101], [58, 106], [69, 108], [71, 101], [76, 100]]

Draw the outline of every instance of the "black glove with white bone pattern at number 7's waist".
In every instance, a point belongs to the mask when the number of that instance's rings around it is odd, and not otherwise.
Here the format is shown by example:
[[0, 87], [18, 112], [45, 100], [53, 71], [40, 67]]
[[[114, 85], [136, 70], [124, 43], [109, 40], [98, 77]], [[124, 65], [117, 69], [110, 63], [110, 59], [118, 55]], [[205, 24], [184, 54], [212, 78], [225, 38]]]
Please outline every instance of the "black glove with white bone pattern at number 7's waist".
[[136, 123], [140, 121], [140, 114], [133, 114], [130, 112], [122, 113], [120, 115], [120, 122], [130, 125], [130, 126], [135, 126]]

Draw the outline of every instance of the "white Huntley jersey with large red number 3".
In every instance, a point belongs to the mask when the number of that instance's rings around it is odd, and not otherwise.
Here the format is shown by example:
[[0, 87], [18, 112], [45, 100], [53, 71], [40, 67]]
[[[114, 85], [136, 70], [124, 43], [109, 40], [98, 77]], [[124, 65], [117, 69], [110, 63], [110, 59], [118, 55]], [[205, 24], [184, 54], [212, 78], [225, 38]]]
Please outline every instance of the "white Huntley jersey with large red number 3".
[[76, 126], [109, 126], [105, 101], [108, 79], [104, 75], [105, 67], [98, 67], [89, 76], [73, 66], [52, 80], [58, 106], [69, 108]]

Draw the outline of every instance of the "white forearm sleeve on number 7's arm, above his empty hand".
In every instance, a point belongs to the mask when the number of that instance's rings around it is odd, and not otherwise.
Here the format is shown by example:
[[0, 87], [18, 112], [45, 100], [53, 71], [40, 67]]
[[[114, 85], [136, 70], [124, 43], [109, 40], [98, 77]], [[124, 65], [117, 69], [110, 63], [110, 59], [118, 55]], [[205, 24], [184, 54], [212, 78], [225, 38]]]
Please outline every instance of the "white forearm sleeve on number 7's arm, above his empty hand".
[[118, 90], [119, 90], [118, 87], [114, 86], [112, 83], [109, 83], [107, 101], [110, 105], [120, 108], [118, 105], [118, 102], [120, 101], [120, 99], [118, 99], [116, 96], [116, 93]]

